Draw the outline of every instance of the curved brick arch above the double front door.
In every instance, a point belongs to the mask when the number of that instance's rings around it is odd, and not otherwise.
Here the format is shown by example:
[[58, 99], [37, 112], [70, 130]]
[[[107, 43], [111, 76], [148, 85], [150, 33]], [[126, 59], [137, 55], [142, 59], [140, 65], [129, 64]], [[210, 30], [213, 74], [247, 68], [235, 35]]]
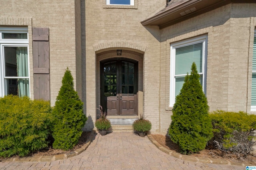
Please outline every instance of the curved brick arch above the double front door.
[[144, 54], [146, 51], [146, 46], [141, 44], [136, 44], [132, 42], [127, 41], [108, 41], [105, 43], [99, 43], [93, 46], [94, 51], [96, 54], [104, 52], [104, 51], [110, 51], [113, 49], [124, 49], [129, 51], [135, 51], [141, 54]]

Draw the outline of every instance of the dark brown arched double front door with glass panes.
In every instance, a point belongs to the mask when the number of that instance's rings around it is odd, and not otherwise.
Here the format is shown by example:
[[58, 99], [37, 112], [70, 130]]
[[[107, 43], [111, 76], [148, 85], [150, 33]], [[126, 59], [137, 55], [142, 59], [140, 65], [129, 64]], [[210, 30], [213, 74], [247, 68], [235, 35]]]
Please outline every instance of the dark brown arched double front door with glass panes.
[[112, 59], [100, 63], [101, 106], [108, 115], [138, 115], [138, 62]]

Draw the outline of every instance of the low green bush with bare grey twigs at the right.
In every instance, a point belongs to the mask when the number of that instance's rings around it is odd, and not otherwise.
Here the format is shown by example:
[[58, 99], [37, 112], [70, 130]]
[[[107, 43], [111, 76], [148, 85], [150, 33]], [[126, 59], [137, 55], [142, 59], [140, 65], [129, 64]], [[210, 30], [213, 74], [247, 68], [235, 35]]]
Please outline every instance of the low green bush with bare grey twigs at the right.
[[256, 133], [256, 115], [243, 111], [214, 111], [210, 114], [215, 147], [225, 151], [246, 155], [252, 150]]

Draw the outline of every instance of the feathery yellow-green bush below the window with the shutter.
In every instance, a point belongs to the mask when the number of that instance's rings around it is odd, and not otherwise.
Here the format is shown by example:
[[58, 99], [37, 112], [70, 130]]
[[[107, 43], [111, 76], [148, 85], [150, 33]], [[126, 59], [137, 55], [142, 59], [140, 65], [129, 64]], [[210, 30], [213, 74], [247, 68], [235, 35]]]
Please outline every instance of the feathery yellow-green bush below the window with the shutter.
[[26, 156], [48, 147], [50, 102], [28, 97], [0, 98], [0, 156]]

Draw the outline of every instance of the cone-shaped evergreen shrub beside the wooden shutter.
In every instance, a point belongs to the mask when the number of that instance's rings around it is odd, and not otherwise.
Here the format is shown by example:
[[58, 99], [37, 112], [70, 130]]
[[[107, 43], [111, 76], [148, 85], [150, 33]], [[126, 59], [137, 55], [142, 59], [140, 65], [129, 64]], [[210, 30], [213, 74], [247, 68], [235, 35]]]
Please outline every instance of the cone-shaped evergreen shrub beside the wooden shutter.
[[72, 149], [82, 135], [82, 127], [87, 118], [83, 113], [83, 102], [74, 90], [73, 77], [68, 68], [62, 78], [62, 86], [52, 114], [55, 118], [52, 133], [53, 148]]

